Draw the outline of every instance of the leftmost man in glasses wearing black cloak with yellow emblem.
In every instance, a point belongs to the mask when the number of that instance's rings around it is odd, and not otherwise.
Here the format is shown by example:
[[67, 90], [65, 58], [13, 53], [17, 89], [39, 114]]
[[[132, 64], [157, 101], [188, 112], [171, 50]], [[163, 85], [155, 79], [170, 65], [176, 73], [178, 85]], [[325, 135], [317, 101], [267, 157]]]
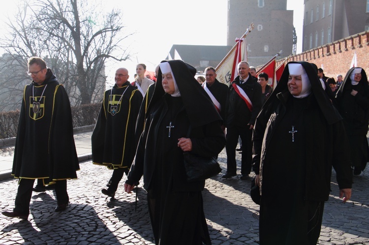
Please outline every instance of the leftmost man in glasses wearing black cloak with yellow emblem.
[[60, 212], [69, 203], [66, 180], [76, 179], [79, 170], [72, 113], [64, 87], [40, 57], [28, 60], [27, 73], [32, 82], [24, 89], [12, 170], [19, 178], [18, 192], [13, 212], [2, 212], [23, 219], [30, 213], [35, 179], [42, 179], [44, 185], [56, 182], [55, 211]]

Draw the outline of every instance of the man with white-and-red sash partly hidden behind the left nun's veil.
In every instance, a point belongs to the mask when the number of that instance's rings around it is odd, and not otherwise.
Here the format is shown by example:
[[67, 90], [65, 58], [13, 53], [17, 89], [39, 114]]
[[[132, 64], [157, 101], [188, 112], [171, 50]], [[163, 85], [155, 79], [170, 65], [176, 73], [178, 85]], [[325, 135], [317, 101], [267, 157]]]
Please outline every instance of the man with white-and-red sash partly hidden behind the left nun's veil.
[[205, 82], [202, 84], [202, 87], [211, 98], [215, 108], [223, 119], [222, 129], [224, 130], [225, 103], [227, 100], [228, 86], [216, 79], [214, 67], [209, 66], [205, 68]]

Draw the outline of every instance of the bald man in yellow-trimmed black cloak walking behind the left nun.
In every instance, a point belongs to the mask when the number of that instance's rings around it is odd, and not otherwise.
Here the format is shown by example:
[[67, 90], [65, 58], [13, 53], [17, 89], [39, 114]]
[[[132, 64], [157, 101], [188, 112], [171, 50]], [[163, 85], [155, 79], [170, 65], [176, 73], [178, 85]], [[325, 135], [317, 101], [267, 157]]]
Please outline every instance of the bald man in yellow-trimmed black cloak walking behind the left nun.
[[142, 102], [140, 91], [128, 82], [128, 70], [119, 68], [115, 85], [104, 92], [101, 109], [92, 132], [92, 163], [113, 169], [101, 192], [114, 198], [118, 184], [127, 174], [136, 152], [135, 127]]

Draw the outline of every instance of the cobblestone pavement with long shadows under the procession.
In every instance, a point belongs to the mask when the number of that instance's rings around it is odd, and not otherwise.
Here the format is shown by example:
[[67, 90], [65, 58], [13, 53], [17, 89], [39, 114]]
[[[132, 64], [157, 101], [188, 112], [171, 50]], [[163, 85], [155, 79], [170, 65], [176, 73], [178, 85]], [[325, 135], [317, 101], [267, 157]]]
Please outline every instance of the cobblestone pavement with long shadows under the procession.
[[[219, 155], [219, 162], [224, 171], [225, 150]], [[125, 177], [117, 199], [110, 200], [101, 189], [109, 180], [111, 170], [93, 165], [91, 161], [80, 166], [78, 179], [68, 181], [70, 206], [65, 211], [54, 212], [53, 191], [33, 192], [29, 220], [0, 215], [0, 244], [154, 244], [142, 180], [135, 211], [135, 193], [123, 193]], [[355, 176], [352, 200], [345, 204], [338, 198], [336, 177], [332, 176], [332, 194], [325, 204], [318, 244], [369, 245], [368, 175], [366, 170]], [[259, 206], [248, 194], [250, 181], [240, 180], [239, 176], [223, 180], [219, 174], [206, 181], [204, 210], [213, 244], [258, 244]], [[11, 211], [14, 207], [16, 188], [17, 180], [0, 181], [1, 211]]]

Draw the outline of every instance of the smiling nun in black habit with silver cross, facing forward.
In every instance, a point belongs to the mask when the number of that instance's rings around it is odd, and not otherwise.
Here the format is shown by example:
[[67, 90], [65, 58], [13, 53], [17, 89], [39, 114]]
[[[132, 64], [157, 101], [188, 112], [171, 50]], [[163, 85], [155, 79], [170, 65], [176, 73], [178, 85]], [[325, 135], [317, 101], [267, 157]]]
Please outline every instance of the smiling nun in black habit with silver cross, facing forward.
[[289, 62], [257, 116], [253, 170], [260, 186], [260, 244], [313, 245], [320, 234], [332, 166], [340, 197], [352, 173], [342, 118], [307, 62]]

